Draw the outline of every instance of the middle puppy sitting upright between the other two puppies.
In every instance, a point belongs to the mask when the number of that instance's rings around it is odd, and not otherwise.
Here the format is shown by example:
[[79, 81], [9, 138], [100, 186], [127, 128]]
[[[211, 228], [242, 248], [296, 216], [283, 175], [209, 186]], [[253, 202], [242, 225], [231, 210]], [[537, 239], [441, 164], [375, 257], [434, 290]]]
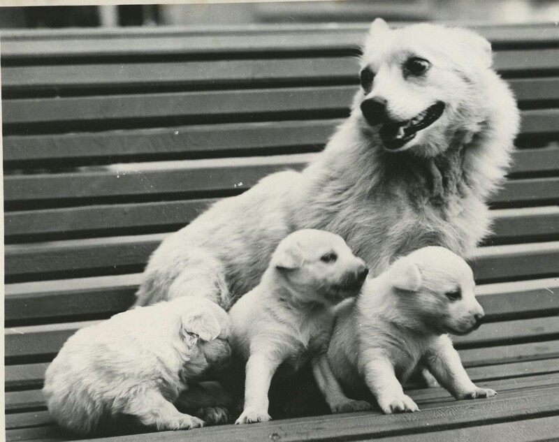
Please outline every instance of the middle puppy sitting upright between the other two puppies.
[[344, 240], [321, 230], [298, 230], [279, 243], [261, 283], [231, 309], [233, 353], [246, 362], [245, 409], [235, 422], [270, 420], [268, 389], [280, 364], [296, 371], [310, 358], [331, 411], [369, 408], [335, 381], [326, 349], [333, 307], [354, 296], [368, 270]]

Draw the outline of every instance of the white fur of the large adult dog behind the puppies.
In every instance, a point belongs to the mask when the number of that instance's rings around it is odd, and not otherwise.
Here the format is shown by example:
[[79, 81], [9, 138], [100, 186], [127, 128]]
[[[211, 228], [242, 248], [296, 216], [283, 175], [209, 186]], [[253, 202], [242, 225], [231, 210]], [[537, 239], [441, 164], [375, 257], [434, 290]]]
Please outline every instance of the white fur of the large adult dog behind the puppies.
[[[402, 72], [410, 55], [431, 64], [421, 81]], [[502, 182], [518, 131], [518, 109], [490, 68], [489, 43], [464, 29], [391, 30], [377, 19], [361, 64], [377, 74], [372, 89], [358, 91], [324, 152], [303, 172], [270, 175], [167, 237], [150, 258], [137, 304], [201, 295], [227, 309], [256, 286], [279, 241], [302, 228], [341, 235], [375, 275], [423, 246], [472, 252], [488, 233], [486, 199]], [[400, 152], [387, 152], [359, 106], [372, 96], [386, 99], [395, 119], [437, 101], [446, 108]]]

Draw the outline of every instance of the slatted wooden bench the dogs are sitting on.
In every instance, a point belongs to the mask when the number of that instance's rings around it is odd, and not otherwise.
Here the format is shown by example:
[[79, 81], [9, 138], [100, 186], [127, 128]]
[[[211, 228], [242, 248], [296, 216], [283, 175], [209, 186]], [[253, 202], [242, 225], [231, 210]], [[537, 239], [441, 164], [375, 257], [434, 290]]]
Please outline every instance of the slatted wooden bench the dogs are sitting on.
[[[8, 441], [72, 439], [45, 409], [48, 362], [79, 327], [131, 305], [165, 235], [319, 152], [349, 113], [366, 29], [1, 34]], [[522, 110], [514, 166], [491, 200], [495, 233], [472, 260], [488, 323], [456, 339], [472, 379], [498, 397], [413, 390], [423, 410], [413, 415], [227, 425], [190, 441], [559, 436], [559, 31], [476, 29]]]

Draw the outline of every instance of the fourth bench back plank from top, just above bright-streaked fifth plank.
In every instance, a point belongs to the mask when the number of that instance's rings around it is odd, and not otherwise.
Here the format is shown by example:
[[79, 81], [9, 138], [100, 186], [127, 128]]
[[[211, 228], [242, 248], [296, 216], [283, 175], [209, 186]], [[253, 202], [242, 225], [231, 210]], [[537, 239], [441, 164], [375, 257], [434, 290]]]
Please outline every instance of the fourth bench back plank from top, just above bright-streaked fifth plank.
[[[555, 130], [559, 110], [522, 112], [525, 135]], [[315, 151], [326, 144], [340, 119], [274, 121], [261, 123], [192, 125], [140, 128], [100, 133], [60, 135], [7, 135], [3, 138], [4, 161], [56, 161], [96, 159], [118, 161], [132, 156], [155, 159], [168, 156], [213, 156], [228, 152]], [[518, 152], [518, 154], [521, 154]]]

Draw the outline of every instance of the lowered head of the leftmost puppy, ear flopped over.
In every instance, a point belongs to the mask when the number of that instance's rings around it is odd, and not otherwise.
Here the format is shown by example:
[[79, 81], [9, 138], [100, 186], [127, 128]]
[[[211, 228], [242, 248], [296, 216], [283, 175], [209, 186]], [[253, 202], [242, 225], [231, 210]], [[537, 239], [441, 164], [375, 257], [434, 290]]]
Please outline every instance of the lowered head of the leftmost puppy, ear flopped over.
[[210, 366], [228, 364], [231, 320], [221, 307], [202, 297], [184, 296], [171, 301], [180, 309], [179, 335], [199, 351]]

